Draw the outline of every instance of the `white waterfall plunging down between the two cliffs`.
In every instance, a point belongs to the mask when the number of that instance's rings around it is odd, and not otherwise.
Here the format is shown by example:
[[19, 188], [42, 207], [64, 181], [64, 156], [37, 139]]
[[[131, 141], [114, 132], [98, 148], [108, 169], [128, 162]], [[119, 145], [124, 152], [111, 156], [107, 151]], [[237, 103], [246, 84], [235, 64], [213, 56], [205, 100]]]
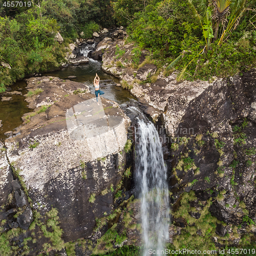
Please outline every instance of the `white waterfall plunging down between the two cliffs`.
[[136, 139], [136, 187], [141, 198], [143, 255], [164, 250], [168, 240], [168, 187], [158, 132], [151, 122], [138, 121]]

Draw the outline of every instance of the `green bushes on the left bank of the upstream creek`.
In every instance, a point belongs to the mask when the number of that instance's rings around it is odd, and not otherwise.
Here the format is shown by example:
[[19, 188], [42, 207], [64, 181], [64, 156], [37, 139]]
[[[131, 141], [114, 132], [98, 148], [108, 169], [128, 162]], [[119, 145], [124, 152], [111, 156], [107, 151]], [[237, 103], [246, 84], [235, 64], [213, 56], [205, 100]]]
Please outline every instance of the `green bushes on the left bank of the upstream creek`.
[[[0, 93], [26, 75], [59, 67], [71, 39], [90, 38], [101, 25], [114, 24], [109, 0], [41, 0], [30, 7], [4, 3], [0, 0]], [[58, 31], [65, 39], [61, 45], [54, 40]]]

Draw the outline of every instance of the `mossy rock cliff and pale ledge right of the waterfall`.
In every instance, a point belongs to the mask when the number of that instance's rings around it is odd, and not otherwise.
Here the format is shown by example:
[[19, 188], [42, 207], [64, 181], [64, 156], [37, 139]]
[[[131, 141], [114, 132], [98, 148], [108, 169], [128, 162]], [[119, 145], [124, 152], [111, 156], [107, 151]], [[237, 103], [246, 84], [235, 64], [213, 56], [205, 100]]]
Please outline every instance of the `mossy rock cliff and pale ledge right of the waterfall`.
[[[169, 187], [174, 221], [170, 241], [176, 248], [189, 246], [192, 241], [185, 237], [191, 233], [195, 233], [194, 239], [205, 241], [199, 243], [202, 248], [245, 245], [246, 236], [253, 241], [255, 70], [211, 83], [177, 82], [175, 73], [165, 77], [160, 72], [152, 82], [156, 67], [144, 61], [139, 69], [132, 68], [132, 49], [121, 40], [109, 44], [102, 67], [123, 79], [123, 87], [141, 103], [155, 108], [149, 111], [150, 107], [144, 107], [144, 113], [155, 121], [162, 120], [162, 133], [172, 147]], [[183, 229], [181, 234], [175, 231], [177, 227]]]

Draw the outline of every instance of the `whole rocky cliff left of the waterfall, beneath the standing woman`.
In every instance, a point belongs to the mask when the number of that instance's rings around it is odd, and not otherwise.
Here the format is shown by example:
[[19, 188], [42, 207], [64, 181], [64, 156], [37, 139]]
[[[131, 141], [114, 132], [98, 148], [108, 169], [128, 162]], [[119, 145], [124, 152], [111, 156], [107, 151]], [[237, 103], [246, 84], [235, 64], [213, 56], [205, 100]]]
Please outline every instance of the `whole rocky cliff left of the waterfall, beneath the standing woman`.
[[0, 216], [5, 243], [16, 246], [10, 255], [92, 238], [96, 220], [113, 213], [126, 165], [130, 119], [117, 103], [99, 98], [98, 105], [84, 84], [54, 77], [30, 78], [28, 88], [35, 110], [1, 145]]

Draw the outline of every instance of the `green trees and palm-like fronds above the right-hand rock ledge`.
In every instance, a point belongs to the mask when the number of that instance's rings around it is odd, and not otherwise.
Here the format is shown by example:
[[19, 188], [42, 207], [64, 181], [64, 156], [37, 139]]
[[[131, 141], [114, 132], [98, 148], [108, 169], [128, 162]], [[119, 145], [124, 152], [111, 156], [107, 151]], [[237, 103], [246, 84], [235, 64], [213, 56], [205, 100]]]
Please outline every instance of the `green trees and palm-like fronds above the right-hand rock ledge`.
[[[256, 2], [117, 0], [115, 17], [130, 39], [180, 79], [229, 76], [255, 66]], [[254, 8], [254, 10], [253, 10]], [[168, 74], [168, 73], [167, 73]]]

